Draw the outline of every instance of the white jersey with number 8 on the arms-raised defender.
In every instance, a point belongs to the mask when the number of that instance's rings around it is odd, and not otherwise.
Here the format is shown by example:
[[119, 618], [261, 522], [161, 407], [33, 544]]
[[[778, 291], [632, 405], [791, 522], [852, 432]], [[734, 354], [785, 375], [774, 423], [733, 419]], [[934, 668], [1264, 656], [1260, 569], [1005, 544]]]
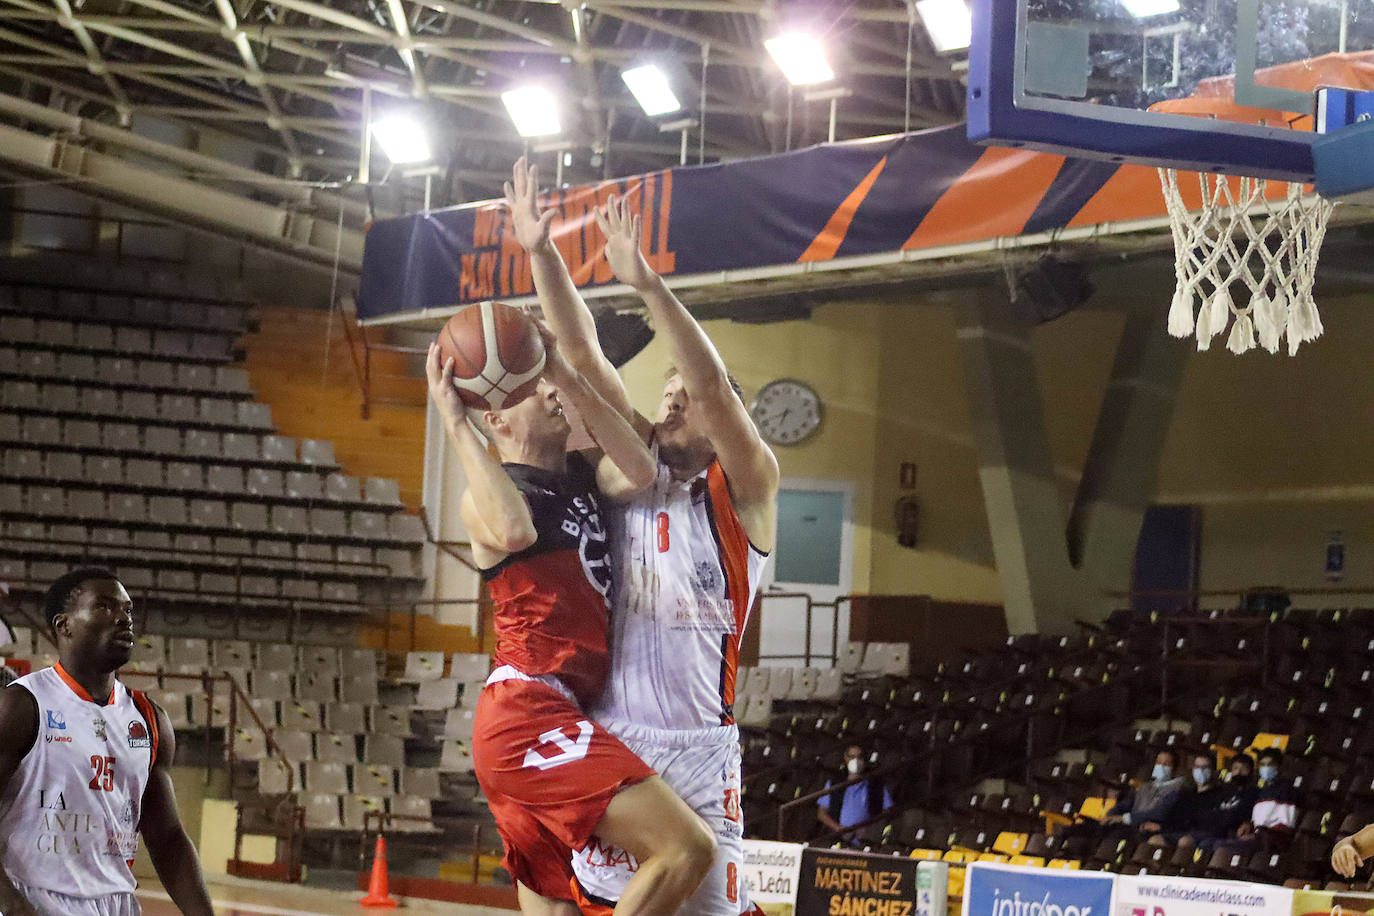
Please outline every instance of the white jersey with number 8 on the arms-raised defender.
[[735, 514], [719, 461], [664, 464], [611, 512], [611, 669], [594, 715], [686, 729], [732, 725], [739, 640], [768, 555]]

